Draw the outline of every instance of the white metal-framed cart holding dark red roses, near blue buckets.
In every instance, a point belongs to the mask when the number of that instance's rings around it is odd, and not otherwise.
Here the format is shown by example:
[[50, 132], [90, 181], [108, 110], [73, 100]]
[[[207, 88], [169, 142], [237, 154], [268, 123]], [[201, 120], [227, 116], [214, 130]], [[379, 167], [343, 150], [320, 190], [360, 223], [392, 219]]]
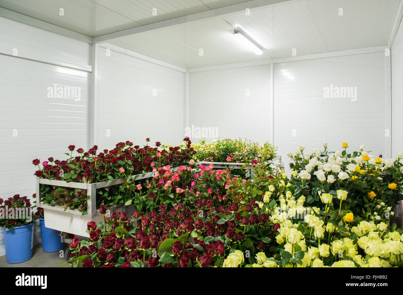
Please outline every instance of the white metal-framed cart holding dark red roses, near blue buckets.
[[[172, 168], [176, 171], [179, 167]], [[145, 174], [132, 175], [135, 180], [149, 179], [154, 176], [154, 172], [148, 172]], [[96, 190], [109, 187], [112, 185], [118, 185], [123, 183], [123, 179], [114, 179], [108, 181], [101, 181], [97, 183], [79, 183], [79, 182], [66, 182], [60, 180], [49, 179], [36, 179], [36, 204], [44, 208], [45, 226], [61, 232], [61, 240], [64, 243], [70, 243], [71, 239], [68, 238], [69, 233], [80, 237], [89, 237], [85, 232], [87, 229], [87, 223], [89, 221], [95, 221], [97, 224], [104, 220], [104, 216], [96, 209]], [[75, 189], [87, 190], [87, 214], [83, 215], [82, 212], [73, 209], [65, 209], [58, 206], [50, 206], [40, 202], [39, 185], [54, 185], [58, 187], [69, 187]], [[109, 213], [118, 211], [127, 211], [133, 213], [134, 207], [125, 204], [118, 204], [108, 207]]]

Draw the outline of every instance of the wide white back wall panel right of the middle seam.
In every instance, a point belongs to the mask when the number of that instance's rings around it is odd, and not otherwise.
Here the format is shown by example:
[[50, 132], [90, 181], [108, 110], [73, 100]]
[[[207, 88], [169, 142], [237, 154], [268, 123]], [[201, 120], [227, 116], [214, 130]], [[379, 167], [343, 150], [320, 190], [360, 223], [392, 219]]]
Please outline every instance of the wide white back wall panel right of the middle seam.
[[[274, 144], [288, 168], [288, 151], [328, 142], [331, 151], [385, 152], [384, 53], [274, 65]], [[324, 87], [357, 87], [357, 99], [324, 98]], [[295, 136], [294, 136], [295, 135]]]

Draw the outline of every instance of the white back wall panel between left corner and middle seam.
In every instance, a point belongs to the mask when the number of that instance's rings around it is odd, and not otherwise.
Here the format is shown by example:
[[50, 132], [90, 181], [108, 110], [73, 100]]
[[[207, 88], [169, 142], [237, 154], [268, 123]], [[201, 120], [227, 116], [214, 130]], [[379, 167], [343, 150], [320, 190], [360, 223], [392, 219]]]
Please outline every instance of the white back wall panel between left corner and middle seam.
[[217, 128], [220, 139], [271, 139], [270, 64], [190, 73], [189, 92], [190, 128]]

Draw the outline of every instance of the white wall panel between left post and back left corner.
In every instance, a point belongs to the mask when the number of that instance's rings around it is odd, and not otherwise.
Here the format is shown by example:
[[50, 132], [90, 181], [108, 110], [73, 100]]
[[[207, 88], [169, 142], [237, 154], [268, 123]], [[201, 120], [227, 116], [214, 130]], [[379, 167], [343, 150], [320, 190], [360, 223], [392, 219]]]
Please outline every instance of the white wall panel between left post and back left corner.
[[183, 73], [100, 48], [97, 144], [120, 141], [180, 144], [183, 139]]

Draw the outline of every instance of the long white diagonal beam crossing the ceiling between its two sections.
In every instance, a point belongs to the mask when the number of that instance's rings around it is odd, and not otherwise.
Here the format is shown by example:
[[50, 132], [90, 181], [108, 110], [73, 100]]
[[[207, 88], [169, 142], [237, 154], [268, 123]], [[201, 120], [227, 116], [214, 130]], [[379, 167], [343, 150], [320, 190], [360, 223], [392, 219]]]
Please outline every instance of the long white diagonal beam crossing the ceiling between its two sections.
[[228, 15], [231, 13], [245, 11], [247, 8], [252, 10], [255, 8], [263, 8], [265, 6], [272, 6], [275, 4], [282, 4], [285, 2], [301, 2], [301, 1], [305, 1], [305, 0], [252, 0], [252, 1], [243, 2], [243, 3], [239, 3], [239, 4], [233, 4], [233, 5], [229, 5], [229, 6], [224, 6], [224, 7], [220, 7], [220, 8], [197, 12], [197, 13], [194, 13], [191, 15], [176, 17], [173, 19], [165, 20], [165, 21], [150, 23], [148, 25], [133, 27], [131, 29], [125, 29], [122, 31], [114, 32], [114, 33], [100, 35], [98, 37], [93, 37], [92, 43], [108, 42], [112, 39], [125, 37], [125, 36], [129, 36], [129, 35], [134, 35], [137, 33], [143, 33], [143, 32], [151, 31], [151, 30], [155, 30], [155, 29], [161, 29], [163, 27], [170, 27], [173, 25], [189, 23], [191, 21], [209, 19], [211, 17], [224, 16], [224, 15]]

